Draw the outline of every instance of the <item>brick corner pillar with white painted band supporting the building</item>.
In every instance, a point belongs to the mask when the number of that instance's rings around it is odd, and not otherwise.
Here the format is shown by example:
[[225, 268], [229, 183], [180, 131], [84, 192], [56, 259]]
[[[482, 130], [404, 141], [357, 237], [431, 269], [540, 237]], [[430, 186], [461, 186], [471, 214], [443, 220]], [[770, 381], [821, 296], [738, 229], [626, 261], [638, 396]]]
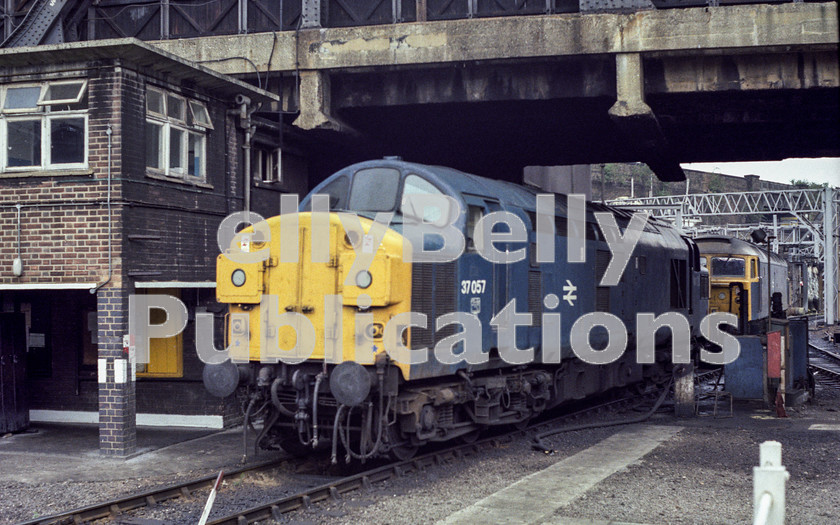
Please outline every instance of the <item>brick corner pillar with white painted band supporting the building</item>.
[[99, 452], [128, 456], [137, 449], [135, 381], [123, 335], [128, 333], [128, 292], [119, 284], [96, 294], [98, 311]]

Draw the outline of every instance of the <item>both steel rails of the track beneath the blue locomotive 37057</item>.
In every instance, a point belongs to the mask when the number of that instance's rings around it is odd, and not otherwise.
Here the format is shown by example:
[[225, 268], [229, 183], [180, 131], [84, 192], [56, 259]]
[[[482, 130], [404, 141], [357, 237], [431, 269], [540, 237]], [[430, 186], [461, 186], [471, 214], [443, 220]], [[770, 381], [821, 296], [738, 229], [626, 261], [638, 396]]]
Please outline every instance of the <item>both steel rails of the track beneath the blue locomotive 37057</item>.
[[[664, 388], [659, 387], [651, 389], [642, 394], [623, 397], [616, 400], [607, 401], [591, 407], [586, 407], [572, 413], [563, 414], [552, 419], [533, 423], [528, 428], [523, 430], [512, 430], [499, 435], [494, 435], [474, 443], [461, 444], [450, 446], [437, 451], [429, 452], [427, 454], [417, 456], [410, 460], [389, 463], [378, 466], [364, 472], [352, 474], [347, 477], [329, 480], [327, 483], [319, 484], [314, 487], [306, 488], [289, 496], [284, 496], [279, 499], [268, 501], [256, 506], [252, 506], [245, 510], [239, 510], [236, 513], [230, 514], [222, 518], [216, 518], [209, 521], [210, 524], [245, 524], [254, 523], [257, 521], [278, 518], [282, 514], [292, 512], [298, 509], [309, 507], [312, 504], [327, 500], [340, 499], [343, 494], [365, 489], [371, 487], [373, 484], [382, 483], [389, 479], [402, 477], [412, 472], [422, 470], [426, 467], [442, 464], [445, 462], [454, 461], [460, 458], [473, 456], [482, 450], [497, 447], [502, 443], [510, 442], [516, 436], [524, 436], [526, 434], [539, 434], [545, 432], [547, 429], [557, 429], [558, 425], [566, 422], [577, 420], [581, 417], [592, 415], [600, 412], [607, 412], [618, 410], [633, 406], [634, 404], [643, 403], [645, 400], [658, 395], [663, 395]], [[621, 421], [604, 422], [605, 426], [621, 424]], [[569, 427], [569, 430], [574, 430], [574, 427]], [[562, 431], [562, 429], [561, 429]], [[291, 458], [284, 457], [271, 461], [264, 461], [248, 467], [225, 472], [226, 479], [241, 476], [242, 474], [252, 474], [256, 472], [270, 470], [282, 463], [289, 461]], [[327, 476], [323, 476], [326, 478]], [[208, 475], [202, 478], [194, 479], [185, 483], [170, 485], [161, 489], [144, 491], [129, 496], [124, 496], [102, 503], [80, 507], [77, 509], [68, 510], [65, 512], [44, 516], [31, 521], [23, 522], [19, 525], [58, 525], [68, 523], [87, 523], [98, 519], [109, 518], [116, 520], [122, 515], [126, 517], [126, 513], [133, 513], [138, 510], [142, 512], [143, 507], [152, 507], [158, 503], [165, 501], [176, 500], [178, 498], [190, 498], [196, 491], [210, 489], [216, 481], [216, 474]], [[218, 500], [217, 500], [218, 501]]]

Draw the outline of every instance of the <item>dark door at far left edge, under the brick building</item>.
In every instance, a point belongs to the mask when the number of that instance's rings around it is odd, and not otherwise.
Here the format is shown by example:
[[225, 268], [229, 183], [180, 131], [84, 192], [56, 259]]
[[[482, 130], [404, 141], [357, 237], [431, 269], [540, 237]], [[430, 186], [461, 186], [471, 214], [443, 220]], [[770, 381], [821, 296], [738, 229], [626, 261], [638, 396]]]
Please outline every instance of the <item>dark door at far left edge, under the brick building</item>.
[[23, 314], [0, 313], [0, 434], [29, 426], [25, 326]]

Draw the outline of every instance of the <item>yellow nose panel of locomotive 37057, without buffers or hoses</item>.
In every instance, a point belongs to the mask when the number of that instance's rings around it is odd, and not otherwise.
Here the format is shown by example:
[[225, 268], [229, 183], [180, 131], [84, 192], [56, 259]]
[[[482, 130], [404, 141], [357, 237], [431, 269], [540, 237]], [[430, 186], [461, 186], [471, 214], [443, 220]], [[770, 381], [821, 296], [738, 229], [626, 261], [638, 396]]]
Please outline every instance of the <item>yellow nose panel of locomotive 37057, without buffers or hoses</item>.
[[[323, 224], [309, 212], [268, 219], [219, 255], [217, 300], [231, 320], [248, 320], [247, 330], [228, 322], [235, 362], [373, 364], [388, 321], [410, 310], [403, 237], [365, 218], [348, 230], [339, 214], [322, 215]], [[262, 260], [238, 262], [247, 259]]]

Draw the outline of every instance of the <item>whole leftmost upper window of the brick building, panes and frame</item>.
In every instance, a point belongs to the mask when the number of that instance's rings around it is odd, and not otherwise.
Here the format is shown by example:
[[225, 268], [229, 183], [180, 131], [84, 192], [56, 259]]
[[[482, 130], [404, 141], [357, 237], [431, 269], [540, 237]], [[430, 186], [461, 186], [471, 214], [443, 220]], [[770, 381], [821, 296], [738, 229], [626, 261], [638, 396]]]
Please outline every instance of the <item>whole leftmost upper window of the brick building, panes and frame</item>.
[[0, 171], [87, 167], [87, 80], [0, 87]]

